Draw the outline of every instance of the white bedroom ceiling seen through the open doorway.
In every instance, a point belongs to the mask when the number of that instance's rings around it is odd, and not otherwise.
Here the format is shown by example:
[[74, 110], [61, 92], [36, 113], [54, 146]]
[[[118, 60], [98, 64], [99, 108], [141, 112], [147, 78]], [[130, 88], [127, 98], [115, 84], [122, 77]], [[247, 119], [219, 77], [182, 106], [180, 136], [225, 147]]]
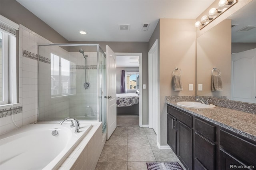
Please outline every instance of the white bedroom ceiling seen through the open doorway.
[[116, 67], [140, 67], [138, 55], [116, 56]]

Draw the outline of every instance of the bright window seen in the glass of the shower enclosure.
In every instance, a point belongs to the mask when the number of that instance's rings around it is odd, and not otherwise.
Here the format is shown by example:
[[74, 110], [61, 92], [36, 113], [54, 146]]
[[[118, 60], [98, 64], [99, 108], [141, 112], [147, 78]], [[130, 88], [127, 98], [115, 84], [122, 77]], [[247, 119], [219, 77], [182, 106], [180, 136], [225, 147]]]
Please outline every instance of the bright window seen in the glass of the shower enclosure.
[[51, 53], [51, 95], [71, 94], [70, 61]]

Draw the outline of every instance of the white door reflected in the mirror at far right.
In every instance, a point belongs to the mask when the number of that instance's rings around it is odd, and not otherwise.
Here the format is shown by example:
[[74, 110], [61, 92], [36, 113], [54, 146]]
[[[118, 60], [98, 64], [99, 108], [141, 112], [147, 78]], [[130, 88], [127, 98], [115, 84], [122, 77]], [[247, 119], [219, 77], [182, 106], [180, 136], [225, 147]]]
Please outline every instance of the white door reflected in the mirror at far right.
[[231, 99], [256, 103], [256, 49], [232, 54]]

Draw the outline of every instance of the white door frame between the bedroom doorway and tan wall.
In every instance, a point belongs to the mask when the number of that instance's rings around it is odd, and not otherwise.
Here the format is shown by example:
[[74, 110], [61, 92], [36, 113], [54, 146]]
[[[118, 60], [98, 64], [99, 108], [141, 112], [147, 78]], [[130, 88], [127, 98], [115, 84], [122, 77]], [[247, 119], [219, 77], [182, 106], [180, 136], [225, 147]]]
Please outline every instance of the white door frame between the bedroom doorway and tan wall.
[[[154, 55], [156, 53], [156, 56]], [[157, 57], [157, 58], [154, 58]], [[160, 136], [160, 96], [159, 96], [159, 66], [158, 66], [158, 40], [154, 42], [148, 51], [148, 127], [153, 128], [153, 120], [156, 125], [156, 135]], [[156, 70], [153, 71], [153, 68]], [[153, 93], [156, 91], [156, 93]], [[156, 105], [153, 105], [156, 103]], [[155, 113], [155, 115], [153, 115]]]

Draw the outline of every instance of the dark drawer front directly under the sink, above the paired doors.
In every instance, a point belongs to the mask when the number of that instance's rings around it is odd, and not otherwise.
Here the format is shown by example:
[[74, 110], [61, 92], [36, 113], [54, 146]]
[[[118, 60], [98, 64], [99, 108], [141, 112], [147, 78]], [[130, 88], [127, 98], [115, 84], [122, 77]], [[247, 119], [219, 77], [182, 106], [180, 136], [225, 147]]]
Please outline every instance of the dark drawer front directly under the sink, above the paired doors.
[[188, 127], [193, 126], [193, 117], [192, 115], [188, 115], [187, 113], [184, 113], [180, 110], [174, 109], [173, 107], [167, 106], [167, 113], [170, 113], [172, 116], [174, 116], [179, 121], [185, 123], [188, 125]]

